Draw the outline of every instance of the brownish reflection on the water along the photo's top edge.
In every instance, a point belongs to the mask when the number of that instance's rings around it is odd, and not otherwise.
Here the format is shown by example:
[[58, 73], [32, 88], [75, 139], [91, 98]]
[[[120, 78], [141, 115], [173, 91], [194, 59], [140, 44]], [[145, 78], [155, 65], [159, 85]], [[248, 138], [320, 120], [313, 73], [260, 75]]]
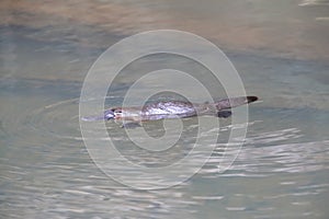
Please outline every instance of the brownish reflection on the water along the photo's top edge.
[[[50, 44], [65, 42], [63, 49], [66, 50], [72, 45], [106, 48], [122, 36], [177, 28], [214, 39], [227, 49], [328, 59], [328, 49], [322, 46], [328, 43], [326, 0], [280, 3], [207, 0], [202, 4], [190, 0], [157, 3], [39, 0], [35, 4], [8, 0], [1, 5], [2, 25], [10, 25], [27, 38]], [[15, 34], [12, 35], [15, 38]]]

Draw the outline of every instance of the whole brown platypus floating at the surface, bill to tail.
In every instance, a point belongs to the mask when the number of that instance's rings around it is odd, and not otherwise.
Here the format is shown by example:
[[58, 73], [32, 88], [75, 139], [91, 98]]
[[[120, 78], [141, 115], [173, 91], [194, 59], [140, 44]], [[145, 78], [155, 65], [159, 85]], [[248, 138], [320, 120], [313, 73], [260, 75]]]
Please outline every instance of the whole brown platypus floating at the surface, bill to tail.
[[158, 120], [163, 118], [185, 118], [200, 115], [212, 115], [217, 117], [229, 117], [229, 108], [257, 101], [257, 96], [239, 96], [225, 99], [215, 103], [192, 104], [185, 101], [161, 101], [146, 104], [141, 107], [113, 107], [101, 116], [82, 117], [82, 120], [109, 120], [124, 123], [140, 123], [146, 120]]

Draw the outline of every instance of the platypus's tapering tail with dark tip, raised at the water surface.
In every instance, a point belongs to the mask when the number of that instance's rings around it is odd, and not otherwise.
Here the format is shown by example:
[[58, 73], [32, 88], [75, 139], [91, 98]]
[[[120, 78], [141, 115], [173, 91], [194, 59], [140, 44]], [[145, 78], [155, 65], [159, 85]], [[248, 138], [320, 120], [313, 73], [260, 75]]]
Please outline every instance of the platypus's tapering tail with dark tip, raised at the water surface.
[[256, 102], [257, 100], [258, 100], [257, 96], [238, 96], [238, 97], [217, 101], [214, 103], [214, 105], [216, 106], [217, 111], [222, 111], [222, 110], [232, 108], [243, 104], [252, 103]]

